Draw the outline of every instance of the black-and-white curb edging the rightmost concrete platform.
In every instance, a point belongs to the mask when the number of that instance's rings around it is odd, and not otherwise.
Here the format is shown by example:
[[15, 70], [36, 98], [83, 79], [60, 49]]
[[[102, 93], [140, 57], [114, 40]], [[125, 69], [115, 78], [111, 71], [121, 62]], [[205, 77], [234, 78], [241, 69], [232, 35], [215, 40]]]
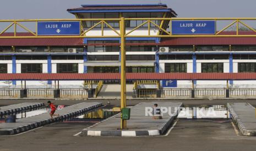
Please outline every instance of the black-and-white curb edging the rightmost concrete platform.
[[239, 119], [237, 113], [233, 110], [231, 103], [227, 103], [227, 108], [228, 108], [228, 111], [231, 114], [233, 122], [237, 125], [237, 127], [240, 130], [240, 132], [242, 133], [242, 135], [244, 135], [244, 136], [256, 136], [256, 131], [250, 131], [250, 130], [246, 129], [246, 126], [244, 126], [242, 120]]

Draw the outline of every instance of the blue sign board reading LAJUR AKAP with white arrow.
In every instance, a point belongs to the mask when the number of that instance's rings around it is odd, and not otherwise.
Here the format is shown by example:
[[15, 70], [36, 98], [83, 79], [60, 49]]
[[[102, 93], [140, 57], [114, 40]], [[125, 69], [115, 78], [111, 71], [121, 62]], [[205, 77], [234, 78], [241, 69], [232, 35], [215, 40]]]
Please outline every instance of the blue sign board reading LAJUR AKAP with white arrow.
[[215, 34], [214, 20], [173, 20], [172, 34]]

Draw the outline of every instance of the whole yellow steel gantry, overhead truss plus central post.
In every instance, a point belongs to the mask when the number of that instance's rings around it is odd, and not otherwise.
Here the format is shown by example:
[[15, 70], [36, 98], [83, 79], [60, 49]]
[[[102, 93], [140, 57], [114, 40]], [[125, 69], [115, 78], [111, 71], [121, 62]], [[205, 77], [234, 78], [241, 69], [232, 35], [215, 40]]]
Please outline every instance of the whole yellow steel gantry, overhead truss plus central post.
[[[137, 27], [132, 28], [132, 30], [127, 30], [125, 26], [126, 21], [131, 20], [142, 20], [143, 23], [138, 25]], [[215, 27], [218, 27], [217, 21], [230, 21], [231, 24], [227, 25], [226, 27], [222, 28], [219, 31], [215, 31], [214, 34], [188, 34], [188, 35], [177, 35], [172, 34], [171, 22], [175, 20], [180, 21], [195, 21], [195, 20], [211, 20], [215, 21]], [[80, 34], [79, 35], [66, 35], [66, 36], [41, 36], [37, 34], [37, 24], [42, 21], [79, 21], [80, 22]], [[84, 21], [95, 21], [96, 24], [91, 27], [83, 27], [82, 22]], [[110, 21], [119, 21], [119, 27], [112, 27], [110, 25]], [[157, 25], [154, 21], [159, 21], [160, 25]], [[167, 21], [170, 25], [170, 31], [166, 28], [163, 28], [163, 22]], [[256, 18], [119, 18], [119, 19], [28, 19], [28, 20], [0, 20], [0, 26], [2, 23], [8, 24], [4, 30], [0, 32], [0, 40], [1, 38], [121, 38], [121, 109], [126, 108], [126, 37], [256, 37], [256, 30], [245, 23], [245, 21], [256, 21]], [[24, 22], [30, 22], [35, 24], [35, 31], [29, 29], [29, 27], [24, 26]], [[150, 25], [154, 25], [151, 27]], [[227, 30], [227, 28], [231, 27], [232, 25], [236, 25], [236, 34], [233, 33], [225, 33], [221, 34], [223, 31]], [[255, 34], [239, 34], [239, 25], [245, 26], [248, 30], [254, 32]], [[97, 27], [101, 27], [99, 35], [89, 34], [90, 31], [94, 31]], [[4, 34], [11, 27], [14, 27], [13, 35]], [[23, 30], [27, 31], [28, 35], [19, 35], [17, 31], [17, 27], [23, 28]], [[141, 27], [146, 27], [148, 32], [138, 32], [136, 34], [132, 34], [138, 31]], [[106, 34], [105, 30], [113, 31], [115, 34]], [[151, 34], [150, 30], [152, 28], [158, 28], [157, 34]], [[121, 129], [126, 129], [127, 123], [126, 120], [121, 119]]]

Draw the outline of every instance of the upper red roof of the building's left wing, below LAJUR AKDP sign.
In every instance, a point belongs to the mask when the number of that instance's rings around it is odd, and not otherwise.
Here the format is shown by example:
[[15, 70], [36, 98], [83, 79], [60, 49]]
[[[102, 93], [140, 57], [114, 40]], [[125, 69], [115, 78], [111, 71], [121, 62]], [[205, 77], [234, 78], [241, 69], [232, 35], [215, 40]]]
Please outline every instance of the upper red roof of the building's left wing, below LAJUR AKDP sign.
[[[1, 36], [13, 36], [3, 33]], [[31, 33], [17, 33], [17, 36], [33, 36]], [[1, 38], [0, 46], [80, 46], [83, 38]]]

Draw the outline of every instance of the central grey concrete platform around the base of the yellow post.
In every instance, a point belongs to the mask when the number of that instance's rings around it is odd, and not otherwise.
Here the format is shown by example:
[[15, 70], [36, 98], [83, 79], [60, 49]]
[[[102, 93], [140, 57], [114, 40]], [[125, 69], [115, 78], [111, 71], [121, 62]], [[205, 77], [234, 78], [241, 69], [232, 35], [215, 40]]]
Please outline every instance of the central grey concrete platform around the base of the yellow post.
[[[170, 109], [172, 115], [165, 113], [162, 119], [152, 119], [150, 115], [146, 116], [146, 107], [152, 108], [157, 103], [158, 107]], [[179, 102], [141, 102], [131, 108], [130, 119], [127, 120], [127, 130], [118, 130], [120, 127], [120, 113], [108, 118], [101, 123], [88, 127], [81, 131], [80, 136], [156, 136], [162, 135], [172, 121], [177, 117]], [[152, 113], [152, 111], [150, 112]]]

